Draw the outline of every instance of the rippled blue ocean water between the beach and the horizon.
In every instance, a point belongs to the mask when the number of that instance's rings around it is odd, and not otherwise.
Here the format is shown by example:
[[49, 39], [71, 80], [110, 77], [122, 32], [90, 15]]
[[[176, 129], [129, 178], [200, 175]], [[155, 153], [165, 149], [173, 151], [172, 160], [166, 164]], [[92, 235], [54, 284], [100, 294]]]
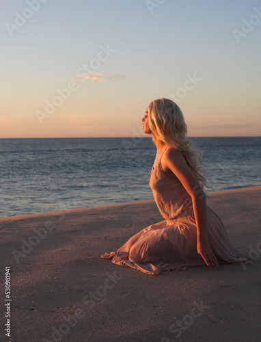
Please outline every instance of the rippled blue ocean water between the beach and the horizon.
[[[206, 192], [261, 185], [261, 137], [194, 137]], [[152, 199], [150, 137], [0, 139], [0, 217]]]

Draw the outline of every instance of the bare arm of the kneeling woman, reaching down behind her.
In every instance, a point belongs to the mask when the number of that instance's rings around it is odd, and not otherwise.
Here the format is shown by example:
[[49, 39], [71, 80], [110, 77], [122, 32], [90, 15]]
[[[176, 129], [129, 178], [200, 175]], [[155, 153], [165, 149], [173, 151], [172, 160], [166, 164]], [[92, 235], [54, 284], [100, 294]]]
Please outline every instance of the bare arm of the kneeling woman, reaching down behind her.
[[192, 198], [195, 222], [197, 224], [197, 252], [204, 259], [210, 269], [217, 267], [217, 258], [208, 244], [207, 225], [206, 225], [206, 196], [200, 187], [197, 179], [187, 166], [187, 163], [178, 150], [167, 148], [162, 159], [161, 165], [165, 173], [173, 172], [188, 194]]

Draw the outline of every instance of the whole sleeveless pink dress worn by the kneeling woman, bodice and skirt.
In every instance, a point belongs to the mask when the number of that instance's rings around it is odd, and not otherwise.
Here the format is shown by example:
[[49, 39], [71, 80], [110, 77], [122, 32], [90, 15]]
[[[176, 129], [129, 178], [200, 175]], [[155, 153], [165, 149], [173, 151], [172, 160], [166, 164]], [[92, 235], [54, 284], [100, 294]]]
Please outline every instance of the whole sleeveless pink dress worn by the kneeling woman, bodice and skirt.
[[[163, 154], [165, 151], [163, 152]], [[149, 185], [156, 205], [165, 218], [131, 237], [117, 252], [100, 257], [113, 259], [116, 265], [139, 269], [146, 274], [184, 270], [206, 265], [197, 253], [197, 226], [191, 196], [173, 174], [165, 174], [161, 158], [156, 155]], [[246, 261], [241, 252], [234, 251], [219, 217], [207, 207], [208, 242], [219, 261]]]

